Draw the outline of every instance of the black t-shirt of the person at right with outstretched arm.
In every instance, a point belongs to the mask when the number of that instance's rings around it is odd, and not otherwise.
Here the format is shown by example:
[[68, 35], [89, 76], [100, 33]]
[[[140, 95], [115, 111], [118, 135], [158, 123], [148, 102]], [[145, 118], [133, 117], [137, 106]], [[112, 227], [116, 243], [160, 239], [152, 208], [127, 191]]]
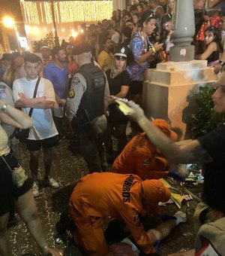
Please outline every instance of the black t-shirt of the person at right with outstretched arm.
[[204, 166], [202, 200], [211, 208], [225, 213], [225, 126], [220, 126], [199, 139], [213, 161]]

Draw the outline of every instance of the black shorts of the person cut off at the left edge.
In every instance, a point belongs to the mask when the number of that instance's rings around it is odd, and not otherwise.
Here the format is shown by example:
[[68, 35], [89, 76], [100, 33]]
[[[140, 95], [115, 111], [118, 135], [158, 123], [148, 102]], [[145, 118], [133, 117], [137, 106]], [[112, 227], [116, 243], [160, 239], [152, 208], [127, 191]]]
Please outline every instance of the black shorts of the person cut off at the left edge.
[[[12, 154], [5, 156], [5, 160], [10, 169], [18, 166], [17, 158]], [[10, 212], [14, 208], [15, 200], [31, 189], [31, 184], [27, 180], [18, 188], [12, 181], [10, 169], [0, 157], [0, 216]]]

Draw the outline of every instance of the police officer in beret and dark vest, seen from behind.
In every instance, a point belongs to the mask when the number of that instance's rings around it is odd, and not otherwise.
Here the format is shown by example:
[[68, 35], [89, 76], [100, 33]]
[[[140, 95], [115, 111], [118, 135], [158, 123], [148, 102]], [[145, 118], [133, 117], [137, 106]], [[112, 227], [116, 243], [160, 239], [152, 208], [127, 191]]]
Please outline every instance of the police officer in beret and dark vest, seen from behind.
[[109, 85], [104, 72], [92, 62], [89, 44], [78, 44], [73, 54], [80, 69], [72, 78], [66, 116], [72, 130], [79, 133], [80, 153], [89, 172], [101, 172], [106, 168], [102, 142], [107, 129], [104, 110], [110, 99]]

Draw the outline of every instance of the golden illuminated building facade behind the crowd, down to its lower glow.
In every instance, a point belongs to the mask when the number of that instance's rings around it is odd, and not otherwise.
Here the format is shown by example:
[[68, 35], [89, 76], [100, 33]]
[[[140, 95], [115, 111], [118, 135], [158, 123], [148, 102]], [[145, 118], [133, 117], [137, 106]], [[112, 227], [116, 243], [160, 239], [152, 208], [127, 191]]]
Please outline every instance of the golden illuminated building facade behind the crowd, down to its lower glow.
[[[50, 1], [20, 0], [28, 41], [37, 41], [54, 32], [52, 3]], [[104, 1], [53, 1], [55, 25], [59, 41], [82, 31], [81, 24], [98, 23], [110, 19], [113, 0]]]

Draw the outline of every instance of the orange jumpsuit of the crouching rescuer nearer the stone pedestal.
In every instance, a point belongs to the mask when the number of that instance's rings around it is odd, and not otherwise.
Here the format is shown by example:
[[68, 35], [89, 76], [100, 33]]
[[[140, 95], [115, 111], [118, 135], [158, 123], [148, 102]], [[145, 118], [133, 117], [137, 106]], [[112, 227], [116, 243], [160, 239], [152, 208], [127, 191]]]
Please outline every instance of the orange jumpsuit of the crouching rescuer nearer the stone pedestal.
[[143, 180], [165, 178], [168, 176], [168, 162], [161, 157], [145, 133], [142, 133], [127, 143], [115, 159], [112, 172], [133, 173]]

